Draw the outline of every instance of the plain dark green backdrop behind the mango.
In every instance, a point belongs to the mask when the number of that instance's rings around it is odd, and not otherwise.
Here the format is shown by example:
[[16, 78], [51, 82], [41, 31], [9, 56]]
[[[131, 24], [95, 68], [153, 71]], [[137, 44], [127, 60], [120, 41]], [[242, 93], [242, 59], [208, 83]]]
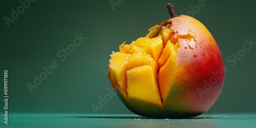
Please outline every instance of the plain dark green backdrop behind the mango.
[[[115, 1], [115, 0], [113, 0]], [[116, 1], [115, 1], [116, 2]], [[112, 88], [106, 72], [112, 51], [126, 41], [145, 36], [148, 29], [160, 24], [169, 14], [167, 3], [177, 14], [192, 11], [199, 1], [123, 1], [112, 9], [109, 1], [35, 1], [14, 23], [7, 26], [4, 17], [19, 1], [1, 1], [0, 57], [1, 72], [8, 70], [9, 113], [92, 113], [92, 104]], [[245, 39], [256, 41], [254, 1], [205, 0], [206, 6], [195, 13], [215, 37], [228, 72], [222, 92], [207, 113], [256, 112], [256, 46], [237, 61], [228, 56], [243, 49]], [[57, 52], [67, 48], [74, 34], [87, 37], [64, 61]], [[59, 67], [29, 92], [42, 66], [56, 60]], [[4, 77], [3, 75], [1, 75]], [[0, 88], [0, 112], [4, 112], [4, 83]], [[114, 96], [98, 114], [131, 114]]]

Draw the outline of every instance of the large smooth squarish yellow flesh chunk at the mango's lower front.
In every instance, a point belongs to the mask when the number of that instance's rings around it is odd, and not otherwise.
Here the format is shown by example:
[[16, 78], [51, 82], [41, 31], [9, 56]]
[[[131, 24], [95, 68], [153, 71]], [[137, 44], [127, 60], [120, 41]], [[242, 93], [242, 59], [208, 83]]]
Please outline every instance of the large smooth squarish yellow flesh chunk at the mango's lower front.
[[127, 93], [129, 98], [162, 106], [158, 84], [151, 66], [136, 67], [127, 71]]

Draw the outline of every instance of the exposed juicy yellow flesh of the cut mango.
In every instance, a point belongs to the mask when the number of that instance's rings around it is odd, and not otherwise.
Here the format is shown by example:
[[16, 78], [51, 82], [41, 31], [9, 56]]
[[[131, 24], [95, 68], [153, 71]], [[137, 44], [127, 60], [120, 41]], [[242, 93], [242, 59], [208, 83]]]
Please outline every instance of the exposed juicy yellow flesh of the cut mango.
[[108, 76], [125, 102], [136, 102], [137, 99], [165, 108], [164, 102], [177, 68], [179, 43], [170, 42], [174, 31], [169, 26], [154, 26], [150, 31], [130, 45], [124, 42], [119, 52], [113, 52]]

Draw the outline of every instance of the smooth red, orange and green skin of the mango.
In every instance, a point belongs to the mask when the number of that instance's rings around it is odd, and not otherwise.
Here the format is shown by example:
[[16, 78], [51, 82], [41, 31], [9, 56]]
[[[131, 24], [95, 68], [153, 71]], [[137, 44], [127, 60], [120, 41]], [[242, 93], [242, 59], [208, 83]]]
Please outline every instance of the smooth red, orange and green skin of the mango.
[[[161, 25], [172, 24], [179, 35], [194, 35], [194, 39], [180, 38], [174, 81], [164, 107], [138, 99], [118, 96], [133, 113], [153, 118], [190, 118], [206, 112], [220, 95], [224, 83], [224, 64], [219, 47], [208, 29], [197, 19], [180, 15], [167, 19]], [[174, 43], [174, 42], [173, 42]], [[111, 78], [110, 73], [108, 73]], [[116, 87], [115, 80], [111, 80]]]

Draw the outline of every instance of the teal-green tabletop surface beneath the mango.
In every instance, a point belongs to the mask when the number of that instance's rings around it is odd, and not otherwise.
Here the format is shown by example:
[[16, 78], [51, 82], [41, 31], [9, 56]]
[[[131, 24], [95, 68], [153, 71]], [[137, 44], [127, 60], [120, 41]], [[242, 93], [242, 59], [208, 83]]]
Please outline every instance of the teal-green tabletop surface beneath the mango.
[[137, 115], [94, 114], [22, 114], [9, 116], [1, 127], [255, 127], [256, 114], [203, 114], [189, 119], [151, 119]]

